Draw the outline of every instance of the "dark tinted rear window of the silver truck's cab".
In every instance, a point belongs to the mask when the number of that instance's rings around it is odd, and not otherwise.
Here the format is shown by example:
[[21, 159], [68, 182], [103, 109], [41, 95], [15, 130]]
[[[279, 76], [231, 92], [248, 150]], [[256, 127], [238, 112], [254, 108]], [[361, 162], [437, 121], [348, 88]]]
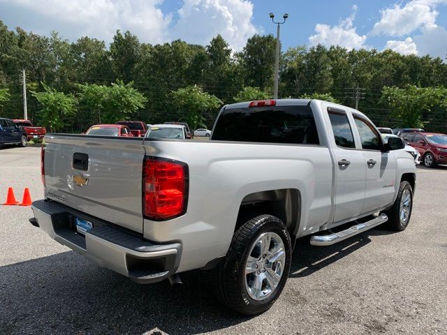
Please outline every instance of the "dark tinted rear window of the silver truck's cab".
[[309, 106], [269, 106], [223, 110], [213, 140], [320, 144]]

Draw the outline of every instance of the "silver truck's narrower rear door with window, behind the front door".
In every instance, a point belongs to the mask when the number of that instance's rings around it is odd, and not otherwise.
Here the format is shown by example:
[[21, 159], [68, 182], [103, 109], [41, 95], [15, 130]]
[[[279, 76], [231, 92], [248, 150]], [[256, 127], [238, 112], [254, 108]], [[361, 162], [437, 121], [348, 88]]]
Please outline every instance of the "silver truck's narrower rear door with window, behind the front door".
[[362, 211], [365, 202], [366, 165], [359, 144], [355, 140], [351, 114], [342, 108], [325, 109], [329, 115], [334, 141], [332, 143], [335, 155], [334, 222], [339, 222], [356, 217]]

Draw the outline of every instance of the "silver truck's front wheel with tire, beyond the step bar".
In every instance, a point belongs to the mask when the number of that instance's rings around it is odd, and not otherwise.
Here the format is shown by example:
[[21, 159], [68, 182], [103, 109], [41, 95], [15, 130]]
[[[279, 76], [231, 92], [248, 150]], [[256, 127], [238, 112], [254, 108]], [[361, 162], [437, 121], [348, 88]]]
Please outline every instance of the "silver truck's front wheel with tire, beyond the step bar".
[[408, 181], [401, 181], [393, 206], [385, 211], [385, 214], [388, 216], [387, 227], [397, 232], [405, 230], [410, 222], [412, 209], [413, 189]]

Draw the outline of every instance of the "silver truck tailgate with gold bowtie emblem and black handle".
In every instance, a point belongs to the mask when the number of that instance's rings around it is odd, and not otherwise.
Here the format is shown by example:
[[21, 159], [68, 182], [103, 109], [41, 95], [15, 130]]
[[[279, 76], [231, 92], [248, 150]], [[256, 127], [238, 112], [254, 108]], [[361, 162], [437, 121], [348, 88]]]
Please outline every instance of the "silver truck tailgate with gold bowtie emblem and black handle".
[[142, 137], [47, 135], [45, 142], [47, 198], [142, 232]]

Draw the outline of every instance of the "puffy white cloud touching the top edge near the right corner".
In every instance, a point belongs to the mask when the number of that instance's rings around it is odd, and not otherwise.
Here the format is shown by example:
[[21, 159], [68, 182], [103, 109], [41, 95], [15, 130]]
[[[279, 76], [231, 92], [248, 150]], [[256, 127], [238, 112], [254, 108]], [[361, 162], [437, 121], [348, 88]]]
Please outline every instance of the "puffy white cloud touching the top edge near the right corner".
[[395, 4], [381, 10], [381, 20], [374, 24], [371, 35], [403, 36], [425, 27], [436, 26], [438, 16], [436, 6], [447, 0], [411, 0], [402, 6]]

